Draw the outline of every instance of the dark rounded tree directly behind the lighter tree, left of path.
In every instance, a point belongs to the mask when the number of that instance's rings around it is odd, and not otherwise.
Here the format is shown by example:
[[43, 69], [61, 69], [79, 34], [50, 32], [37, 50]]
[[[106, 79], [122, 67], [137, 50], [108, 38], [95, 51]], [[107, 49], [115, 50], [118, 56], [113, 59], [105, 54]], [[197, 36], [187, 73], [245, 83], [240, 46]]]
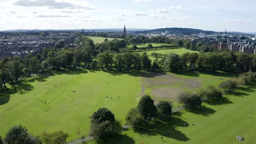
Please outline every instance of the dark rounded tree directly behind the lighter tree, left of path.
[[108, 109], [101, 108], [92, 114], [92, 117], [91, 117], [92, 123], [102, 123], [102, 122], [106, 122], [106, 121], [109, 121], [109, 122], [115, 121], [114, 114], [111, 111], [109, 111]]

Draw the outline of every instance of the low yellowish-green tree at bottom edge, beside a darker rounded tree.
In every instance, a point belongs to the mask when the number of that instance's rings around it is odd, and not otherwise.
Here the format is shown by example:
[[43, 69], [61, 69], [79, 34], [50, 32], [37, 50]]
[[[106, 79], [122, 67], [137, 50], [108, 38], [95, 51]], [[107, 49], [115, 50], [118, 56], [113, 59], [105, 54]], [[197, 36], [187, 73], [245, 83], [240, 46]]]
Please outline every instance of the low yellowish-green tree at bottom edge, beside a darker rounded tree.
[[40, 135], [40, 139], [45, 144], [63, 144], [66, 143], [68, 135], [63, 131], [55, 131], [53, 133], [45, 133], [43, 132]]

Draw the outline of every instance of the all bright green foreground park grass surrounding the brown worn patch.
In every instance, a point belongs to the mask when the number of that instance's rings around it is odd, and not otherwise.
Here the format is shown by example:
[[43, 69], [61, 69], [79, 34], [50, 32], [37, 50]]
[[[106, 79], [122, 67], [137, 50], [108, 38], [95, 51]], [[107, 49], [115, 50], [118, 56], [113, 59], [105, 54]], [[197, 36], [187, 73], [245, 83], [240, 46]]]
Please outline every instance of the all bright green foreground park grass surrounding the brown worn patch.
[[[226, 80], [235, 75], [189, 71], [174, 76], [185, 80], [196, 79], [201, 87], [206, 87], [217, 86], [220, 78]], [[154, 76], [151, 78], [154, 79]], [[88, 136], [88, 116], [100, 107], [107, 107], [124, 124], [127, 111], [137, 105], [142, 94], [143, 79], [147, 77], [140, 77], [137, 73], [75, 70], [22, 82], [13, 90], [1, 92], [2, 96], [9, 95], [10, 100], [0, 105], [0, 135], [4, 137], [11, 127], [21, 124], [33, 135], [39, 135], [42, 131], [62, 130], [70, 134], [68, 140], [79, 137], [78, 131], [80, 135]], [[159, 80], [155, 76], [155, 81]], [[178, 81], [174, 84], [181, 85]], [[203, 103], [202, 110], [176, 112], [170, 121], [159, 123], [142, 136], [129, 129], [124, 131], [120, 139], [103, 143], [241, 143], [236, 140], [237, 135], [245, 137], [243, 143], [254, 143], [255, 90], [256, 85], [239, 88], [232, 94], [225, 94], [223, 102]], [[145, 93], [150, 94], [150, 91], [150, 87], [146, 86]], [[106, 96], [113, 97], [113, 100]], [[46, 104], [42, 104], [41, 100]], [[252, 118], [248, 118], [248, 115]], [[184, 122], [190, 124], [189, 127], [184, 127]], [[89, 143], [96, 142], [91, 140]]]

